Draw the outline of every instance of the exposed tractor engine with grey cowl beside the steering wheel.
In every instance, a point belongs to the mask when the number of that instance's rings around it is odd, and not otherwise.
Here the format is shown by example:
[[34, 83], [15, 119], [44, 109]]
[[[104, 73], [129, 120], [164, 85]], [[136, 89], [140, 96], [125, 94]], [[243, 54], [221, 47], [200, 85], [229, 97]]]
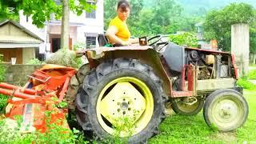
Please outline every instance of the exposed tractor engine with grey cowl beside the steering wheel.
[[197, 67], [198, 80], [234, 77], [230, 54], [178, 46], [172, 42], [160, 54], [170, 67], [170, 76], [176, 90], [182, 89], [182, 71], [186, 71], [186, 66]]

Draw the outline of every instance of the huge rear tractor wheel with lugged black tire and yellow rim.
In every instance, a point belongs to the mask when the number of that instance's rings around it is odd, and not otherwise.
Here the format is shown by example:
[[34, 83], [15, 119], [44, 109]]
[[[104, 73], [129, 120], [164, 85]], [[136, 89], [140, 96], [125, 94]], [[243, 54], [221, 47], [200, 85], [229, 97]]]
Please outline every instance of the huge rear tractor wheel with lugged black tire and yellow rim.
[[166, 99], [162, 82], [150, 66], [117, 58], [103, 62], [84, 79], [76, 99], [77, 119], [83, 130], [102, 139], [120, 130], [118, 121], [129, 118], [119, 137], [128, 137], [129, 143], [145, 143], [158, 134], [158, 126], [166, 117]]

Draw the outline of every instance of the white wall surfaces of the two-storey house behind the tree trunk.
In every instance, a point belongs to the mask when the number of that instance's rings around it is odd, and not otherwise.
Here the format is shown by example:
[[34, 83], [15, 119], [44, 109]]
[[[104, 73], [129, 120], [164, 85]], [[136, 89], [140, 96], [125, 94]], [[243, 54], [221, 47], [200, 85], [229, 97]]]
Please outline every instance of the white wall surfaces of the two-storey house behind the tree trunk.
[[[86, 18], [86, 13], [82, 13], [77, 16], [73, 12], [70, 12], [70, 38], [72, 38], [72, 44], [77, 42], [86, 42], [86, 36], [95, 36], [102, 34], [104, 31], [104, 13], [103, 13], [103, 0], [98, 0], [96, 4], [96, 18]], [[22, 10], [19, 12], [20, 24], [25, 26], [34, 34], [38, 34], [40, 38], [44, 40], [44, 43], [39, 47], [40, 54], [46, 53], [46, 43], [50, 43], [50, 35], [48, 34], [61, 34], [61, 25], [44, 26], [41, 29], [32, 24], [32, 18], [28, 18], [26, 22], [26, 16], [22, 14]], [[56, 22], [56, 21], [54, 21]], [[98, 46], [98, 43], [96, 44]]]

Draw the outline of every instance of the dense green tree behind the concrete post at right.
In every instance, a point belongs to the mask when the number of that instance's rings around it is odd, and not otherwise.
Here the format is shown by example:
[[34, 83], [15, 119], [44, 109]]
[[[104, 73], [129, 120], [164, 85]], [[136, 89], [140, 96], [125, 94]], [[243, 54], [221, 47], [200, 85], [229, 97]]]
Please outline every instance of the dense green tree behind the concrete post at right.
[[204, 23], [205, 38], [217, 39], [218, 47], [229, 51], [231, 47], [231, 26], [236, 23], [254, 23], [254, 7], [246, 3], [232, 3], [222, 10], [212, 10]]

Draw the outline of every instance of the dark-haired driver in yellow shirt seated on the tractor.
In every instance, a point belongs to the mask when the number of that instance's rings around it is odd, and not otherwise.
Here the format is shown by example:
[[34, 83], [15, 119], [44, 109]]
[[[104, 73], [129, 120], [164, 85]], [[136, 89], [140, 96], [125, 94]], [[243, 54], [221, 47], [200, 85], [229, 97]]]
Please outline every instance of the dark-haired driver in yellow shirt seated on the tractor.
[[110, 21], [106, 30], [106, 38], [114, 46], [129, 46], [138, 43], [138, 38], [130, 38], [130, 30], [126, 20], [130, 15], [130, 4], [126, 0], [120, 0], [117, 7], [117, 16]]

